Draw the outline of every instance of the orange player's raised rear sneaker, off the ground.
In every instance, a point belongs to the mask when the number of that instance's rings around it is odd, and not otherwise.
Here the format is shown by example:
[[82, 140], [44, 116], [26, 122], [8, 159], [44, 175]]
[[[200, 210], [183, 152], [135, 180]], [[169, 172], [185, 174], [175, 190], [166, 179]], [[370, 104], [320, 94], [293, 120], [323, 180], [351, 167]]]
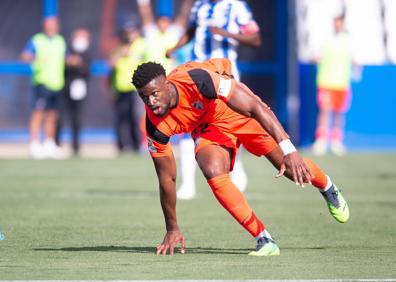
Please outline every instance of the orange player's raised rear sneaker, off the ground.
[[334, 184], [325, 192], [321, 192], [327, 202], [330, 214], [341, 223], [349, 219], [349, 207], [341, 191]]

